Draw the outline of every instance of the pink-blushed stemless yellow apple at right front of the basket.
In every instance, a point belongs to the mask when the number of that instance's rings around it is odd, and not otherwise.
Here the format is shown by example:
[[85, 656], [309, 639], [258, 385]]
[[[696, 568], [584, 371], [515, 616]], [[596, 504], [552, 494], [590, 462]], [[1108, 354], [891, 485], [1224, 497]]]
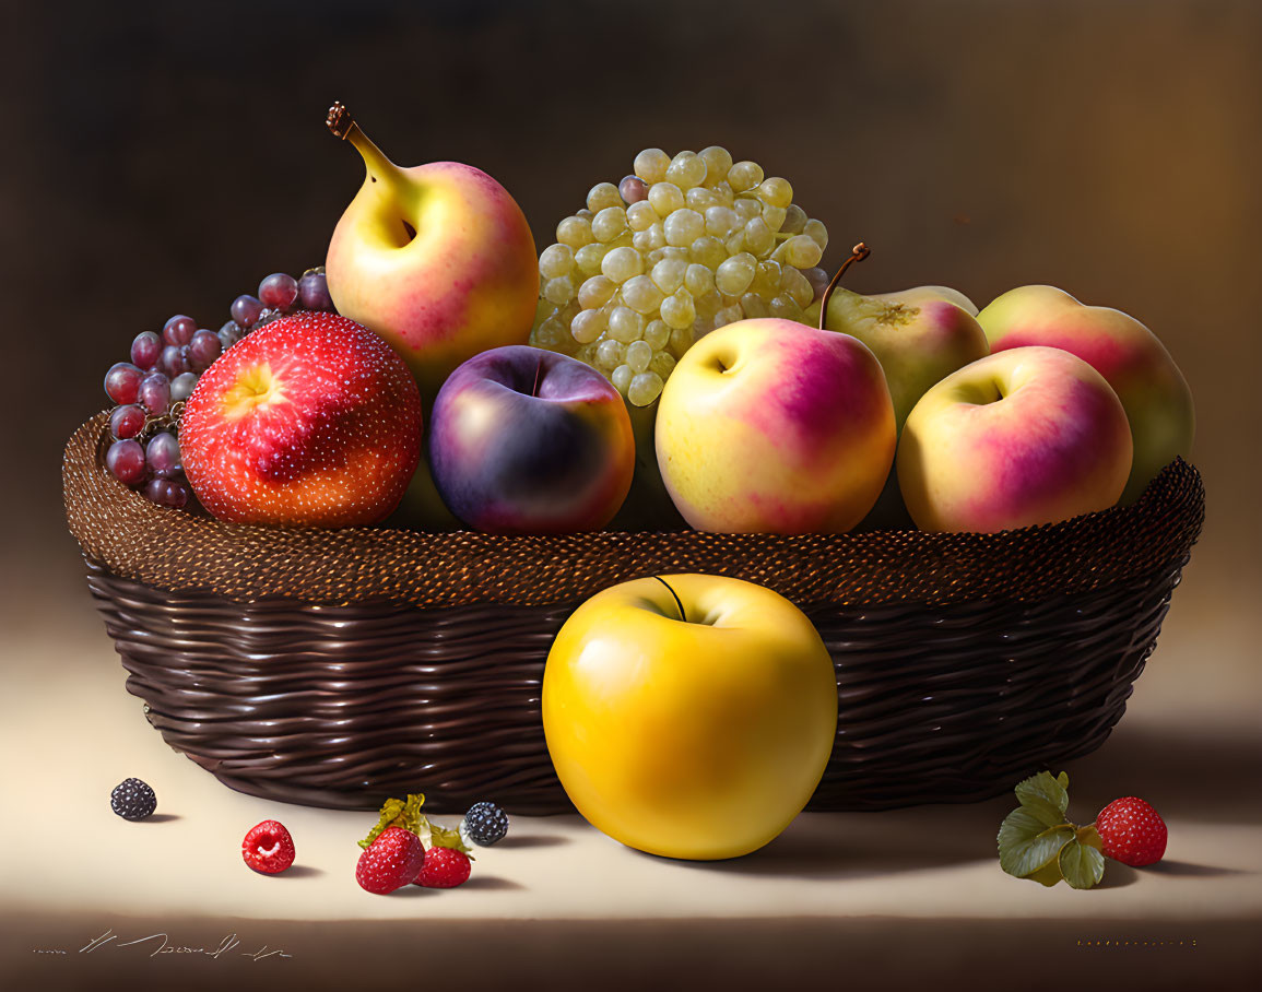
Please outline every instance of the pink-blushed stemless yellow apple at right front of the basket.
[[1012, 348], [925, 393], [902, 429], [899, 485], [921, 530], [993, 533], [1113, 506], [1131, 451], [1099, 372], [1060, 348]]

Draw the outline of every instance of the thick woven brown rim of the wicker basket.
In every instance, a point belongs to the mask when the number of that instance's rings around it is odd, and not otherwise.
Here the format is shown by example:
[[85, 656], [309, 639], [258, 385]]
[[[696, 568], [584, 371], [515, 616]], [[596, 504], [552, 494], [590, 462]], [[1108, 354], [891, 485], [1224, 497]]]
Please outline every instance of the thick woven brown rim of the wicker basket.
[[1039, 599], [1176, 564], [1204, 521], [1200, 473], [1176, 458], [1131, 506], [997, 534], [265, 528], [159, 507], [127, 490], [105, 468], [109, 416], [74, 432], [62, 466], [67, 523], [85, 555], [122, 578], [239, 602], [533, 606], [679, 572], [761, 582], [799, 605]]

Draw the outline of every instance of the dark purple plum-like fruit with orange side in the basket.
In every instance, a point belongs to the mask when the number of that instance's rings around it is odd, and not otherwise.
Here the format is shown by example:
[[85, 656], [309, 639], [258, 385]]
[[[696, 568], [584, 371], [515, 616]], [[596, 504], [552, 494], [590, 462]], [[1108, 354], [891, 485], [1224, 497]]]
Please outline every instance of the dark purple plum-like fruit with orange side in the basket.
[[443, 502], [476, 530], [599, 530], [631, 488], [635, 437], [603, 375], [510, 345], [469, 358], [438, 391], [429, 467]]

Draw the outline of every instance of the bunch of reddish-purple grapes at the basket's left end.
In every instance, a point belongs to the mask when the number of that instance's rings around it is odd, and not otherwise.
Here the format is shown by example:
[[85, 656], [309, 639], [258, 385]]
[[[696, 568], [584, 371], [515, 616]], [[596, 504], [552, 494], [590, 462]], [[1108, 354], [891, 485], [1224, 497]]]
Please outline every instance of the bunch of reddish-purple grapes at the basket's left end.
[[251, 331], [299, 309], [333, 309], [323, 266], [308, 269], [302, 279], [273, 273], [259, 284], [257, 297], [232, 300], [232, 317], [217, 332], [178, 313], [160, 334], [136, 334], [131, 361], [115, 362], [105, 374], [105, 394], [119, 404], [110, 414], [114, 443], [105, 453], [114, 477], [141, 488], [159, 506], [186, 506], [192, 493], [178, 437], [184, 400], [220, 355]]

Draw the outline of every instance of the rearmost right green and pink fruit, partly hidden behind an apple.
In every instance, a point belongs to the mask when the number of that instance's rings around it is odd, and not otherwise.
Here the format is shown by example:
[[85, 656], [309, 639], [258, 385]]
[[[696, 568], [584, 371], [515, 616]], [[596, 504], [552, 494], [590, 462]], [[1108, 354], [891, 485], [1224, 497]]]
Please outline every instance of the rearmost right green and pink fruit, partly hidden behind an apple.
[[1135, 443], [1122, 502], [1175, 457], [1188, 458], [1195, 434], [1191, 390], [1170, 352], [1147, 327], [1108, 307], [1084, 307], [1054, 286], [1021, 286], [978, 314], [994, 352], [1027, 345], [1064, 348], [1108, 380], [1126, 409]]

